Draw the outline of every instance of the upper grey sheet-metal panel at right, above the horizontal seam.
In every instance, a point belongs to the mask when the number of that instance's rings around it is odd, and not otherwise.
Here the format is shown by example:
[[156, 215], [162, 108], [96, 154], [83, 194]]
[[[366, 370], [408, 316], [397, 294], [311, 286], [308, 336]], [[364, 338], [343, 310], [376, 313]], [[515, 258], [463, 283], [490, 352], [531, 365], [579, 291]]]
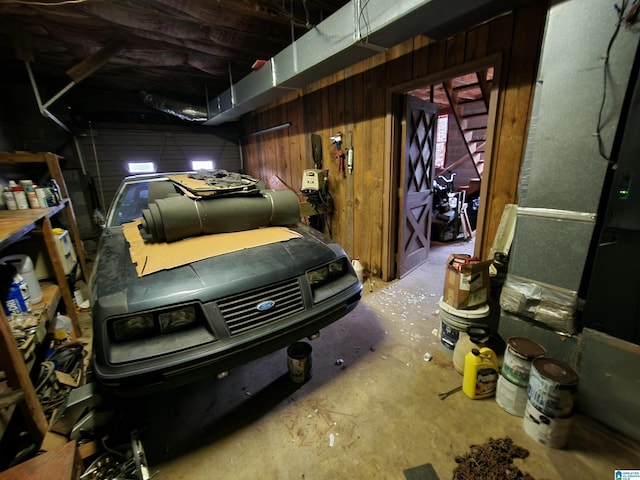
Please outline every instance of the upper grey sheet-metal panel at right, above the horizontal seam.
[[[555, 2], [549, 11], [536, 89], [535, 135], [519, 205], [596, 212], [607, 161], [594, 135], [602, 100], [604, 58], [617, 13], [614, 2]], [[610, 152], [638, 33], [622, 27], [609, 57], [601, 137]], [[526, 182], [525, 182], [526, 180]], [[524, 183], [524, 185], [523, 185]], [[523, 188], [524, 187], [524, 188]]]

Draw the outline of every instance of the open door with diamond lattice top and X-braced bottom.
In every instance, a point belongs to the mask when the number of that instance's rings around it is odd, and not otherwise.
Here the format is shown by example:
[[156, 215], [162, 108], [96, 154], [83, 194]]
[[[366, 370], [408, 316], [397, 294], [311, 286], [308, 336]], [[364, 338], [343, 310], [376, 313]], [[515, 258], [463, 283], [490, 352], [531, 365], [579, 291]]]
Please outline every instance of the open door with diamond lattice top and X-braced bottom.
[[400, 176], [398, 276], [420, 266], [429, 255], [437, 105], [405, 96], [403, 168]]

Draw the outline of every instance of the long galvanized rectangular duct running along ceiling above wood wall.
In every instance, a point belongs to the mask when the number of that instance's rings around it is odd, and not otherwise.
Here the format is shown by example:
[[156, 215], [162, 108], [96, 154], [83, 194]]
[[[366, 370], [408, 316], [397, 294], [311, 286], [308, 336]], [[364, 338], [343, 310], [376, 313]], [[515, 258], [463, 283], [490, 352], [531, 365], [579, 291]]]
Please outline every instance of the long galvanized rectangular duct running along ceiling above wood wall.
[[209, 103], [204, 125], [241, 115], [418, 34], [451, 36], [529, 0], [351, 0]]

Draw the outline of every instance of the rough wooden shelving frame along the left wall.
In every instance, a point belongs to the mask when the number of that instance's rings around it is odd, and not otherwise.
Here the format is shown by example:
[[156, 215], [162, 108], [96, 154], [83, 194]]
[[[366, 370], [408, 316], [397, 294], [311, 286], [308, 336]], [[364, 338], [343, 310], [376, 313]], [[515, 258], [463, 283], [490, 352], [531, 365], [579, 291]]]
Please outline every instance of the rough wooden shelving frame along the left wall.
[[[50, 208], [0, 211], [0, 251], [12, 243], [21, 240], [28, 234], [37, 233], [42, 235], [43, 243], [51, 260], [57, 282], [57, 285], [43, 290], [43, 302], [41, 303], [46, 303], [48, 307], [48, 319], [45, 319], [45, 321], [51, 320], [55, 314], [58, 302], [62, 300], [66, 307], [66, 313], [73, 322], [76, 335], [81, 336], [82, 329], [75, 309], [73, 294], [56, 248], [51, 224], [51, 218], [55, 215], [66, 215], [81, 269], [81, 277], [83, 279], [87, 278], [86, 257], [82, 248], [82, 240], [76, 224], [73, 206], [69, 200], [67, 187], [64, 182], [64, 177], [62, 176], [62, 170], [60, 169], [60, 157], [49, 152], [0, 152], [0, 163], [45, 163], [49, 169], [51, 178], [58, 183], [62, 197], [62, 202], [59, 205]], [[36, 308], [38, 306], [36, 306]], [[39, 445], [47, 432], [48, 425], [36, 391], [31, 383], [29, 375], [30, 367], [31, 366], [28, 367], [25, 364], [23, 352], [18, 348], [4, 310], [0, 309], [0, 368], [5, 372], [11, 390], [23, 392], [24, 395], [17, 406], [25, 418], [25, 422], [34, 441]]]

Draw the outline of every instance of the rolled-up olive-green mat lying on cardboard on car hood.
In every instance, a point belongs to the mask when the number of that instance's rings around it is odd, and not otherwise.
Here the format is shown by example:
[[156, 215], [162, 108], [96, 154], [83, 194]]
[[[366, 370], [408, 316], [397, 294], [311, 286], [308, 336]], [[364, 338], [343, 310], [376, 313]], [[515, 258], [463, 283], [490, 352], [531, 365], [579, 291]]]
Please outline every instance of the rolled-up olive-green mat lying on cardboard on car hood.
[[298, 197], [291, 190], [263, 190], [261, 195], [191, 199], [158, 198], [142, 210], [142, 228], [154, 240], [250, 230], [266, 225], [292, 225], [300, 220]]

